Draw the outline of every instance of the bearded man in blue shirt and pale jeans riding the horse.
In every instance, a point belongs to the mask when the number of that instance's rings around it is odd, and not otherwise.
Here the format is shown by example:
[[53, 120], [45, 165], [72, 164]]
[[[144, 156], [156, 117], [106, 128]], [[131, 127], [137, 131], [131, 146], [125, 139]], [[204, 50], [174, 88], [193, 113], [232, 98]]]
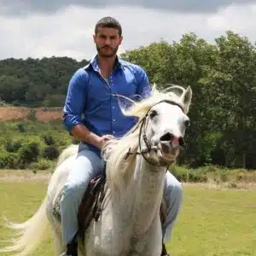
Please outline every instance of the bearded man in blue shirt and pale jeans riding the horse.
[[[74, 73], [63, 109], [67, 130], [81, 141], [61, 199], [62, 239], [67, 247], [67, 253], [63, 255], [71, 256], [77, 255], [74, 237], [78, 231], [79, 204], [90, 178], [104, 171], [100, 154], [102, 145], [110, 137], [121, 137], [135, 125], [135, 119], [123, 116], [118, 98], [114, 95], [139, 100], [150, 94], [148, 77], [143, 68], [122, 61], [117, 56], [123, 39], [117, 20], [112, 17], [99, 20], [93, 39], [97, 55], [88, 66]], [[163, 226], [166, 241], [183, 195], [181, 184], [169, 172], [166, 174], [164, 195], [168, 206], [168, 218]]]

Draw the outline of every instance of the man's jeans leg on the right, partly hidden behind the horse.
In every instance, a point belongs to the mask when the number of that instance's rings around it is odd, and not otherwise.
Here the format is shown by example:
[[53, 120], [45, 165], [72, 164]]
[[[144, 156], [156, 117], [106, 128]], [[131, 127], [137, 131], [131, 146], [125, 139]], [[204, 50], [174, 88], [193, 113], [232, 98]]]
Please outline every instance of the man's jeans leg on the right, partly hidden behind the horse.
[[164, 198], [167, 205], [167, 218], [166, 223], [163, 224], [163, 238], [164, 242], [168, 241], [171, 237], [174, 223], [177, 219], [177, 214], [183, 202], [183, 188], [176, 177], [171, 172], [166, 172]]

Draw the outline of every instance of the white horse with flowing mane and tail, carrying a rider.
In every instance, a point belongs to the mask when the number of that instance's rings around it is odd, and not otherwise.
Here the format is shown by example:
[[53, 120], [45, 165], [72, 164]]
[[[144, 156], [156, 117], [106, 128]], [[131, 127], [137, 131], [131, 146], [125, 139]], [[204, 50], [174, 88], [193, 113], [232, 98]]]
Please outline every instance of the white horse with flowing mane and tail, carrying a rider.
[[[181, 93], [177, 94], [177, 90]], [[114, 139], [102, 150], [107, 161], [108, 189], [100, 218], [90, 222], [84, 241], [79, 239], [79, 255], [160, 255], [160, 203], [165, 175], [183, 146], [191, 97], [190, 87], [185, 90], [176, 85], [160, 91], [154, 86], [152, 96], [123, 110], [125, 115], [137, 116], [138, 122], [124, 137]], [[38, 212], [23, 224], [9, 225], [18, 238], [2, 251], [31, 255], [43, 241], [48, 226], [54, 234], [56, 255], [64, 251], [61, 224], [53, 209], [77, 153], [76, 145], [62, 152]]]

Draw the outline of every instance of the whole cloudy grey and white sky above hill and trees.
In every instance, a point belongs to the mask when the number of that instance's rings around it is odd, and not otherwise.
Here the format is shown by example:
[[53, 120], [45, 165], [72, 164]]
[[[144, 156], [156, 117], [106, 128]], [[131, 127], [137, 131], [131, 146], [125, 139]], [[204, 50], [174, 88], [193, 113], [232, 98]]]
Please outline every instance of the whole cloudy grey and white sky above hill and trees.
[[232, 30], [256, 42], [256, 0], [0, 0], [0, 59], [89, 60], [96, 21], [108, 15], [123, 28], [119, 52], [189, 32], [214, 43]]

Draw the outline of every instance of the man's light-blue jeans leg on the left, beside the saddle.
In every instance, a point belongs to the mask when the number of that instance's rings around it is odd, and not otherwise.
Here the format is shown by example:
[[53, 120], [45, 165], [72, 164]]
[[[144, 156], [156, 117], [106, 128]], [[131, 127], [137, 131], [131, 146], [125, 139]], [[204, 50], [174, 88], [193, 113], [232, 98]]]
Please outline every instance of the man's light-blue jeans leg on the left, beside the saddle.
[[78, 231], [79, 205], [90, 178], [100, 175], [104, 169], [103, 160], [86, 145], [79, 144], [79, 154], [69, 172], [61, 198], [62, 242], [68, 246]]

